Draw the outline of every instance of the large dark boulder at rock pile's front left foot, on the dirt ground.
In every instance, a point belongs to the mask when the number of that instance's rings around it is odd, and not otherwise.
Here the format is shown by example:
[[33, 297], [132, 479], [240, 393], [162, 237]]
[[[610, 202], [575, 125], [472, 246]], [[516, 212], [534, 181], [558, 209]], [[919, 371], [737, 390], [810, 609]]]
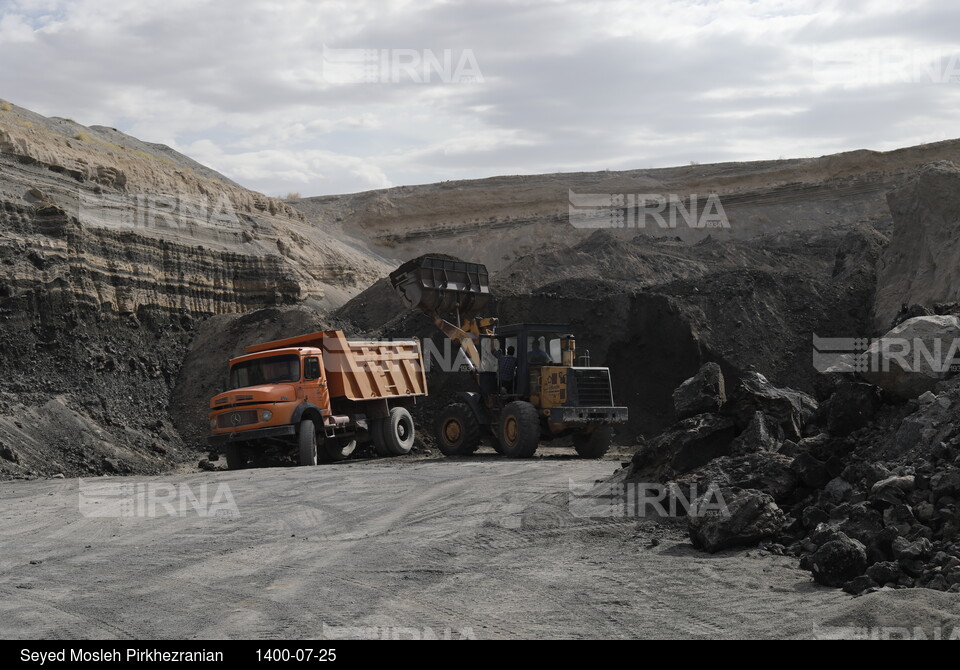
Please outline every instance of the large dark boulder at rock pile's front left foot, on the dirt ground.
[[713, 554], [732, 547], [753, 546], [775, 537], [783, 528], [786, 515], [766, 493], [725, 488], [720, 489], [720, 497], [721, 511], [691, 514], [687, 521], [690, 541], [697, 549]]

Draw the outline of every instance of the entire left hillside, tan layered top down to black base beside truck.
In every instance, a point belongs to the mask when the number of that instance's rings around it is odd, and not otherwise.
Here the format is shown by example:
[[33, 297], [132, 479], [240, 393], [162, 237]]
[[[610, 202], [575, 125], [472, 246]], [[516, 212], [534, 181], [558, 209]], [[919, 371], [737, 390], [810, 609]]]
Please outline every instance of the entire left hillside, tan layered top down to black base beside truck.
[[0, 476], [193, 459], [168, 408], [197, 325], [338, 306], [389, 269], [345, 239], [168, 147], [0, 101]]

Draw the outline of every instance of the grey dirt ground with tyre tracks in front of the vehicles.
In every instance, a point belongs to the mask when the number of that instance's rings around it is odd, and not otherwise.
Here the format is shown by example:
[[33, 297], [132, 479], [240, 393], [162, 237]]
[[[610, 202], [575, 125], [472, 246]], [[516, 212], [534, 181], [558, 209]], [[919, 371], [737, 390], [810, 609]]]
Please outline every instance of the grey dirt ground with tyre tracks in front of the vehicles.
[[617, 466], [491, 452], [85, 480], [226, 486], [235, 518], [85, 516], [77, 480], [7, 482], [0, 636], [809, 637], [851, 602], [790, 558], [572, 517], [570, 482]]

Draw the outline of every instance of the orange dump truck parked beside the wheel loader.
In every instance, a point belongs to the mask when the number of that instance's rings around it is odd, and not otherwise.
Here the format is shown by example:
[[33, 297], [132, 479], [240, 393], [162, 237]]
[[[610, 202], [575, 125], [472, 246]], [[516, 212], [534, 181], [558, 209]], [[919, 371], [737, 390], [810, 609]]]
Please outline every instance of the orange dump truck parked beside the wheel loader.
[[210, 444], [231, 470], [274, 448], [300, 465], [341, 460], [358, 442], [382, 456], [413, 447], [408, 407], [427, 393], [420, 343], [348, 340], [326, 330], [246, 348], [210, 400]]

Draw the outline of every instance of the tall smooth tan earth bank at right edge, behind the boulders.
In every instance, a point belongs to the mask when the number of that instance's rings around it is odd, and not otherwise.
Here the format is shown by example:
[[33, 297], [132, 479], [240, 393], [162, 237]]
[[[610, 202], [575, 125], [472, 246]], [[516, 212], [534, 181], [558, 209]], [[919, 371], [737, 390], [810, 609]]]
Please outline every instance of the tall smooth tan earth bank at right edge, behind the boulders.
[[887, 203], [894, 227], [877, 269], [877, 329], [902, 305], [960, 298], [960, 167], [947, 161], [924, 166]]

